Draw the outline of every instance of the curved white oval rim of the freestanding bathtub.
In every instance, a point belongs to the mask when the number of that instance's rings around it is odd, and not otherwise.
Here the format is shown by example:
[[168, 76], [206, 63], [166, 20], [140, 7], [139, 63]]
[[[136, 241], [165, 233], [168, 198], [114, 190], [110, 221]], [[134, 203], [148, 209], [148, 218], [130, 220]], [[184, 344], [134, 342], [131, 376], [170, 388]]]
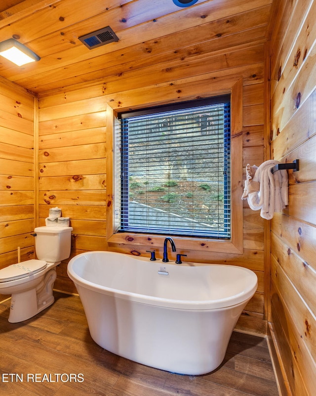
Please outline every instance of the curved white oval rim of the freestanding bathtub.
[[[257, 287], [258, 287], [258, 277], [257, 275], [250, 269], [236, 266], [236, 265], [230, 265], [230, 264], [202, 264], [202, 266], [212, 266], [212, 265], [217, 265], [217, 266], [222, 266], [222, 267], [233, 267], [233, 268], [240, 268], [240, 270], [247, 272], [248, 274], [251, 274], [253, 277], [253, 283], [252, 287], [247, 290], [246, 293], [239, 293], [234, 296], [230, 297], [225, 297], [225, 298], [219, 298], [217, 300], [178, 300], [178, 299], [169, 299], [169, 298], [162, 298], [162, 297], [154, 297], [154, 296], [147, 296], [139, 293], [133, 293], [133, 292], [127, 292], [127, 291], [121, 291], [118, 289], [110, 288], [110, 287], [105, 287], [98, 285], [97, 283], [88, 281], [82, 277], [80, 277], [76, 272], [75, 269], [73, 268], [76, 262], [76, 259], [82, 256], [86, 255], [91, 255], [91, 254], [96, 254], [96, 253], [114, 253], [116, 255], [124, 255], [124, 256], [129, 256], [131, 259], [141, 259], [141, 261], [147, 262], [148, 257], [142, 257], [142, 256], [133, 256], [131, 254], [126, 254], [126, 253], [119, 253], [119, 252], [113, 252], [113, 251], [108, 251], [108, 250], [94, 250], [94, 251], [88, 251], [88, 252], [83, 252], [79, 253], [78, 255], [74, 256], [68, 263], [67, 265], [67, 274], [70, 277], [70, 279], [74, 282], [75, 286], [77, 287], [77, 284], [85, 289], [91, 290], [95, 293], [100, 293], [108, 296], [112, 296], [114, 298], [121, 298], [129, 301], [135, 301], [143, 304], [148, 304], [148, 305], [156, 305], [160, 307], [165, 307], [165, 308], [173, 308], [173, 309], [186, 309], [186, 310], [215, 310], [215, 309], [223, 309], [223, 308], [230, 308], [236, 305], [240, 305], [241, 303], [247, 303], [251, 297], [255, 294]], [[158, 261], [159, 262], [159, 261]], [[150, 261], [148, 262], [150, 265]], [[175, 264], [172, 264], [172, 261], [170, 263], [162, 263], [164, 266], [173, 266]], [[186, 264], [186, 263], [184, 263]], [[190, 266], [191, 267], [191, 266]], [[164, 275], [160, 275], [164, 276]], [[79, 291], [78, 291], [79, 292]], [[79, 293], [80, 296], [80, 293]]]

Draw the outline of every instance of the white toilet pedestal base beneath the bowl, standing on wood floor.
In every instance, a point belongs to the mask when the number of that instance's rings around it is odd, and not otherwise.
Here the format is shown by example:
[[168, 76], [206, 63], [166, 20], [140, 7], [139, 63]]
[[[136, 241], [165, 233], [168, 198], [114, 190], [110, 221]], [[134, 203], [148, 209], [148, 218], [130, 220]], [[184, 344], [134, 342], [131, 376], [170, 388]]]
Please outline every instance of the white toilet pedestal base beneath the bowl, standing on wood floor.
[[8, 321], [10, 323], [23, 322], [51, 305], [55, 300], [53, 296], [55, 279], [56, 270], [52, 268], [33, 289], [13, 293]]

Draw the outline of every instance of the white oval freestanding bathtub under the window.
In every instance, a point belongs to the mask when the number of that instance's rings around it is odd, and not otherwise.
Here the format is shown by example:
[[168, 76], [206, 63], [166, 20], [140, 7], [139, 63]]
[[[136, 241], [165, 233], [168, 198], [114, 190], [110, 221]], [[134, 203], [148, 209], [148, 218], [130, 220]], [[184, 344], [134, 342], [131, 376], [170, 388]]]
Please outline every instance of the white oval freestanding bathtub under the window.
[[190, 375], [221, 364], [237, 319], [257, 289], [257, 276], [246, 268], [166, 264], [108, 251], [77, 255], [68, 275], [99, 346]]

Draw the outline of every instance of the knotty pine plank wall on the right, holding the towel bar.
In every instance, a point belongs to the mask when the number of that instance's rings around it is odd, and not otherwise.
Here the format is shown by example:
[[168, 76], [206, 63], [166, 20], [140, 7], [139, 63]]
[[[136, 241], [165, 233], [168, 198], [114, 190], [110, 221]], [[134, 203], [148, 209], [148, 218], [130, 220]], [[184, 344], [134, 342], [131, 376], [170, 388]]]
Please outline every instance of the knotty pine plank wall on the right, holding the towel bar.
[[281, 0], [271, 37], [271, 156], [289, 205], [271, 222], [271, 337], [283, 395], [316, 389], [316, 1]]

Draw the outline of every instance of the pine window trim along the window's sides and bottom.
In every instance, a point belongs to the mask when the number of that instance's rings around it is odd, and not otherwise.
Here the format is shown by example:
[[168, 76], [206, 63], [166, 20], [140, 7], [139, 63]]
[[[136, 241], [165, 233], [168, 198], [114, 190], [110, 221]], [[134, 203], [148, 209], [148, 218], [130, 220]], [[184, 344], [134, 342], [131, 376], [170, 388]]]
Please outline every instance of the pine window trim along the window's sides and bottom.
[[[225, 87], [224, 87], [225, 90]], [[223, 93], [223, 92], [222, 92]], [[243, 216], [242, 216], [242, 79], [227, 87], [226, 94], [231, 94], [231, 239], [194, 238], [173, 236], [177, 248], [205, 250], [242, 254], [243, 252]], [[209, 96], [218, 93], [210, 92]], [[186, 100], [186, 99], [184, 99]], [[144, 103], [146, 106], [146, 103]], [[119, 128], [117, 112], [110, 103], [107, 105], [107, 242], [161, 247], [165, 235], [146, 233], [118, 233], [115, 230], [115, 196], [114, 178], [116, 177], [114, 153], [115, 135]], [[121, 109], [119, 109], [121, 110]]]

